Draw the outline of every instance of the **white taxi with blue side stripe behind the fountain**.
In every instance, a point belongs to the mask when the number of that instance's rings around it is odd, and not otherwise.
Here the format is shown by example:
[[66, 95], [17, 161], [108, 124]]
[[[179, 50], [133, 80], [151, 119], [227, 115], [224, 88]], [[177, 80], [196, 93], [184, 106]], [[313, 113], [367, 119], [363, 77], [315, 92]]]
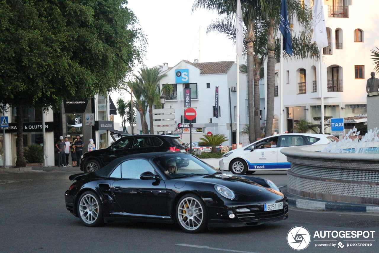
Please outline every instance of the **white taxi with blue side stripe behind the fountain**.
[[233, 174], [288, 170], [291, 164], [287, 162], [287, 157], [280, 152], [280, 149], [290, 146], [327, 144], [336, 139], [327, 134], [273, 135], [227, 152], [219, 161], [220, 170], [232, 171]]

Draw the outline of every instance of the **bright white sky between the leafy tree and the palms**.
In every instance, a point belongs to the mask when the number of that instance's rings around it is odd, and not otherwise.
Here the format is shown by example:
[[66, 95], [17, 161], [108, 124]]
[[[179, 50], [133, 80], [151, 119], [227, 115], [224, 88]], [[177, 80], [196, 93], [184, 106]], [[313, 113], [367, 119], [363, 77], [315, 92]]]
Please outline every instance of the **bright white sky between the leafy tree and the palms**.
[[[215, 32], [206, 34], [208, 25], [219, 16], [205, 9], [192, 13], [193, 3], [194, 0], [128, 0], [127, 7], [136, 15], [147, 37], [144, 65], [152, 68], [166, 62], [169, 67], [174, 67], [181, 60], [193, 62], [194, 59], [199, 62], [235, 61], [232, 41]], [[139, 68], [141, 65], [134, 72]], [[126, 92], [111, 93], [113, 102], [120, 96], [125, 101], [130, 100], [130, 94]], [[115, 122], [121, 122], [119, 115], [115, 115]]]

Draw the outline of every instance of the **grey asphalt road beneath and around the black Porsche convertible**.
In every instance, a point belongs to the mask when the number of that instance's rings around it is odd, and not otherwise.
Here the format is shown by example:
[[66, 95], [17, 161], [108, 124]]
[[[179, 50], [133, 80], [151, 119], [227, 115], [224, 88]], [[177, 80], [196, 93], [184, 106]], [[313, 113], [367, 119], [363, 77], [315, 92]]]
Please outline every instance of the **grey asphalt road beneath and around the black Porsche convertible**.
[[[316, 231], [375, 231], [372, 246], [350, 246], [346, 239], [334, 242], [312, 238], [302, 252], [377, 252], [379, 216], [366, 213], [304, 211], [290, 208], [287, 220], [248, 228], [215, 229], [202, 234], [184, 233], [176, 225], [113, 222], [88, 228], [66, 211], [64, 192], [70, 174], [80, 171], [0, 173], [0, 252], [296, 252], [287, 244], [294, 226]], [[285, 185], [285, 172], [257, 172], [277, 185]], [[319, 243], [343, 242], [343, 248], [316, 247]], [[365, 242], [366, 243], [366, 242]]]

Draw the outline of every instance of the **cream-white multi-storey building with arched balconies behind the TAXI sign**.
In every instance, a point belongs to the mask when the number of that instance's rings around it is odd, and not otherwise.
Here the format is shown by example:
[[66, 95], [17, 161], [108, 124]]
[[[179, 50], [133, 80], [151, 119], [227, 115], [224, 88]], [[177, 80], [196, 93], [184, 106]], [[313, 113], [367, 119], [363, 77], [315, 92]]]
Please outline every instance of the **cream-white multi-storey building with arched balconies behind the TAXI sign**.
[[[310, 0], [302, 2], [313, 5]], [[323, 49], [321, 82], [318, 61], [284, 60], [283, 131], [291, 132], [294, 127], [296, 132], [300, 119], [319, 123], [313, 117], [321, 116], [320, 85], [324, 116], [345, 118], [345, 129], [366, 121], [366, 80], [374, 71], [370, 50], [379, 45], [378, 2], [323, 0], [323, 4], [329, 46]], [[293, 29], [296, 31], [296, 24]], [[275, 69], [279, 77], [280, 63]], [[279, 118], [280, 96], [275, 97], [274, 113]], [[330, 127], [325, 132], [330, 132]]]

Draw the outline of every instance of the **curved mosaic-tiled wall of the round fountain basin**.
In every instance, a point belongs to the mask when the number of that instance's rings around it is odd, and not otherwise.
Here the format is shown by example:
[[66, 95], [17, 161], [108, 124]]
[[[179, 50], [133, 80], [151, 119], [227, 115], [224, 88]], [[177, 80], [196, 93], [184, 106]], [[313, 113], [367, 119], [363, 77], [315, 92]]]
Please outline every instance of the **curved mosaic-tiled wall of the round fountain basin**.
[[288, 192], [317, 200], [379, 204], [379, 154], [317, 152], [325, 146], [281, 150], [291, 162]]

